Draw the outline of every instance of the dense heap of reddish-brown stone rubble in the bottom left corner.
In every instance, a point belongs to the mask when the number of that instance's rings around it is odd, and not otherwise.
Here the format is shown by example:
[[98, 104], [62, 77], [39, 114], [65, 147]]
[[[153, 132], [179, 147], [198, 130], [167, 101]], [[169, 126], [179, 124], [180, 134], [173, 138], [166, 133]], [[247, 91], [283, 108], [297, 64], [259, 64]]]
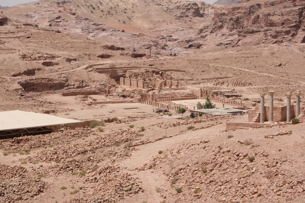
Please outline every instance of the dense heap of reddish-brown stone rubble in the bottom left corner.
[[24, 202], [47, 189], [40, 177], [32, 177], [24, 167], [0, 165], [0, 203]]

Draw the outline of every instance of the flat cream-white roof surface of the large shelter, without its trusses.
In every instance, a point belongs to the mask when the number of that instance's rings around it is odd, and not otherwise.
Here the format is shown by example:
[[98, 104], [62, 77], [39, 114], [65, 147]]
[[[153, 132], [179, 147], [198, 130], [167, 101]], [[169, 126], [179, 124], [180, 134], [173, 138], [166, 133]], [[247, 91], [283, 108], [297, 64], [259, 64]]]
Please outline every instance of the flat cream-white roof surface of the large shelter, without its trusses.
[[82, 122], [84, 121], [19, 110], [0, 112], [0, 130], [55, 126]]

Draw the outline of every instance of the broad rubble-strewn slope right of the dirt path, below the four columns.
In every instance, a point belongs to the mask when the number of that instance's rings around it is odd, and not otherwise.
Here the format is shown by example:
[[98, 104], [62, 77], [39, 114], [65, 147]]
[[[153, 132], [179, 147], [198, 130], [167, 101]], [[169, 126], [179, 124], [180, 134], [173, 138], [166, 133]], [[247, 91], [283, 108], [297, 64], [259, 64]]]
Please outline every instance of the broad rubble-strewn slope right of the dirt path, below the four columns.
[[[305, 178], [287, 169], [291, 161], [286, 157], [273, 158], [264, 150], [255, 152], [248, 147], [242, 151], [226, 145], [212, 147], [206, 142], [180, 144], [143, 166], [162, 168], [168, 184], [183, 188], [183, 198], [173, 189], [166, 202], [192, 202], [197, 198], [230, 203], [276, 198], [282, 202], [305, 195]], [[200, 194], [193, 193], [195, 188], [202, 189]]]

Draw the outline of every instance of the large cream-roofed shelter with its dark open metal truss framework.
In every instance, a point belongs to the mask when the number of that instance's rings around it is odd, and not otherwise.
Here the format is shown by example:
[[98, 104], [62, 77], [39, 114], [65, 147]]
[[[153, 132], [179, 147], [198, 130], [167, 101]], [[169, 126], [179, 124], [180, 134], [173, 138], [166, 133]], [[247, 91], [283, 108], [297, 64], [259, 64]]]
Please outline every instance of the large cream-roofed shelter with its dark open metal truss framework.
[[0, 112], [0, 139], [50, 133], [67, 127], [75, 128], [83, 122], [35, 112], [4, 111]]

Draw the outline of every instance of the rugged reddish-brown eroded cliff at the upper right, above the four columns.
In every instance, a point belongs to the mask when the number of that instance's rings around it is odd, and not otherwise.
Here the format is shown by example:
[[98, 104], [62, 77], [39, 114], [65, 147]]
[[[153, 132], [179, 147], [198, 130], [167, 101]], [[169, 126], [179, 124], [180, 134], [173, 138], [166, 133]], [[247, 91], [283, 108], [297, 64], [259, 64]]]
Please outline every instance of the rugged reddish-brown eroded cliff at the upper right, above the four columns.
[[199, 29], [199, 34], [226, 32], [249, 37], [260, 33], [272, 43], [304, 43], [304, 11], [303, 1], [243, 1], [215, 9], [212, 23]]

